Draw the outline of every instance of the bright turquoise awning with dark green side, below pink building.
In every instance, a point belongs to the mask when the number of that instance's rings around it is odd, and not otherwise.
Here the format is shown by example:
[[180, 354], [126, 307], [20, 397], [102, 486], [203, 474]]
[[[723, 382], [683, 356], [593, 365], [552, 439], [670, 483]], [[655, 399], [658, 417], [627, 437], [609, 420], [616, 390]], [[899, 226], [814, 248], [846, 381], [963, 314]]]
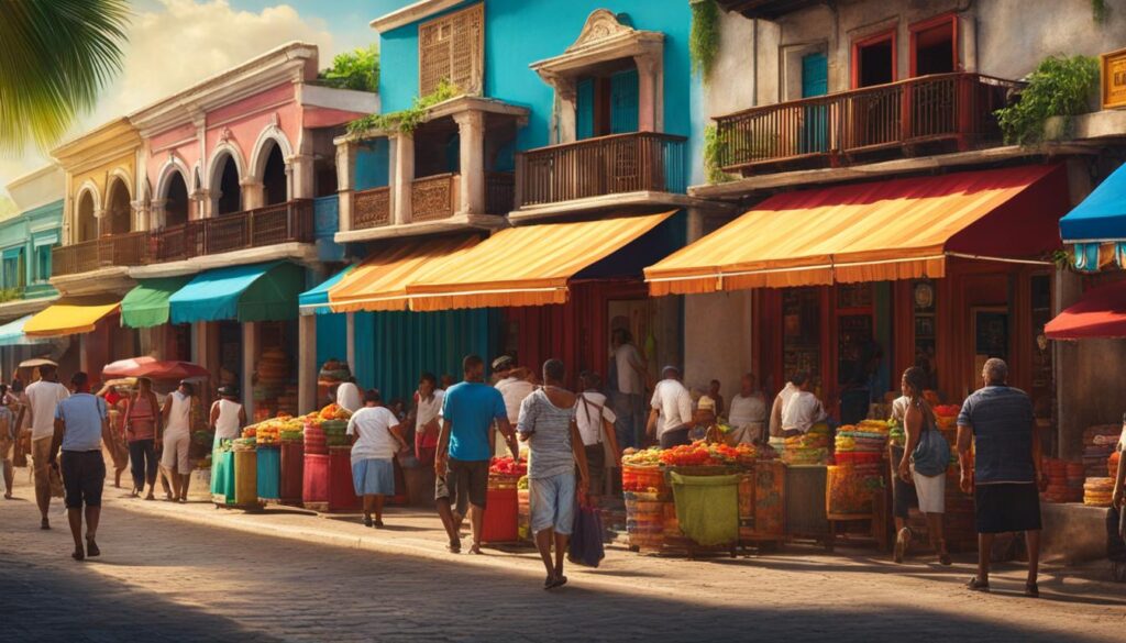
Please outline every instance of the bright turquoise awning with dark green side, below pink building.
[[171, 322], [283, 321], [297, 316], [305, 270], [288, 261], [217, 268], [196, 275], [170, 298]]

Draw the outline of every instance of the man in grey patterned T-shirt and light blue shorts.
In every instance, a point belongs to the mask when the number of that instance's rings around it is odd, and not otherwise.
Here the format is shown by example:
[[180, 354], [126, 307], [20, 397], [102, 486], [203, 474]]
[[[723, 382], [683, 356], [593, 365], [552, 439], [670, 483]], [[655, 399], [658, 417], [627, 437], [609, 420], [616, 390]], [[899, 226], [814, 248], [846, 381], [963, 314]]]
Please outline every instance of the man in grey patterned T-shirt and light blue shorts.
[[[517, 432], [528, 443], [528, 489], [531, 533], [544, 561], [547, 578], [544, 589], [566, 584], [563, 559], [574, 526], [575, 463], [579, 465], [578, 493], [586, 497], [587, 450], [575, 422], [574, 393], [563, 387], [566, 373], [558, 359], [544, 363], [544, 386], [520, 405]], [[552, 545], [555, 560], [552, 560]]]

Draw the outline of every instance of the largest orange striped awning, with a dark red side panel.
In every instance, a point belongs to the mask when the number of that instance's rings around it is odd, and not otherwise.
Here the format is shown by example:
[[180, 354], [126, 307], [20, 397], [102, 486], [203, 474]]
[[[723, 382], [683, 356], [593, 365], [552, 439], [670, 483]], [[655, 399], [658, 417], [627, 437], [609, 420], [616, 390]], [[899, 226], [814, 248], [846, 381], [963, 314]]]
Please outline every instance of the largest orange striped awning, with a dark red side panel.
[[1040, 257], [1060, 247], [1064, 180], [1058, 166], [1026, 166], [780, 194], [645, 279], [653, 295], [712, 293], [937, 278], [959, 253]]

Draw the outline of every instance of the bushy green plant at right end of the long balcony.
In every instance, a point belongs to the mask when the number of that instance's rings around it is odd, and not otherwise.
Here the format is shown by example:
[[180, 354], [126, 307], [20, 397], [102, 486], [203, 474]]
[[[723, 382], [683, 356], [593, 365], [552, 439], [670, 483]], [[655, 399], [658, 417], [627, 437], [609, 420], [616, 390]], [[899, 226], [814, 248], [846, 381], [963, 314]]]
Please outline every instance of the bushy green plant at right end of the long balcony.
[[1049, 56], [1028, 77], [1019, 99], [997, 110], [998, 123], [1009, 144], [1033, 145], [1045, 137], [1048, 118], [1062, 116], [1064, 131], [1070, 117], [1089, 110], [1099, 82], [1099, 62], [1091, 56]]

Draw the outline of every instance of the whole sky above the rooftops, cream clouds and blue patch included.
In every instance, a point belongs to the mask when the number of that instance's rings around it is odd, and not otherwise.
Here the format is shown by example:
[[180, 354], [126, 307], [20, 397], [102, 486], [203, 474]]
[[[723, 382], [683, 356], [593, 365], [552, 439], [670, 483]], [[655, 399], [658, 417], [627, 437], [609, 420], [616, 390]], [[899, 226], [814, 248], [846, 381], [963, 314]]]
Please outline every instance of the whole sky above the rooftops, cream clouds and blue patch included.
[[[291, 41], [320, 47], [320, 64], [337, 53], [368, 46], [368, 24], [401, 0], [132, 0], [124, 61], [97, 108], [79, 118], [66, 139]], [[0, 155], [0, 214], [6, 186], [50, 162], [29, 146]], [[10, 207], [10, 205], [9, 205]]]

